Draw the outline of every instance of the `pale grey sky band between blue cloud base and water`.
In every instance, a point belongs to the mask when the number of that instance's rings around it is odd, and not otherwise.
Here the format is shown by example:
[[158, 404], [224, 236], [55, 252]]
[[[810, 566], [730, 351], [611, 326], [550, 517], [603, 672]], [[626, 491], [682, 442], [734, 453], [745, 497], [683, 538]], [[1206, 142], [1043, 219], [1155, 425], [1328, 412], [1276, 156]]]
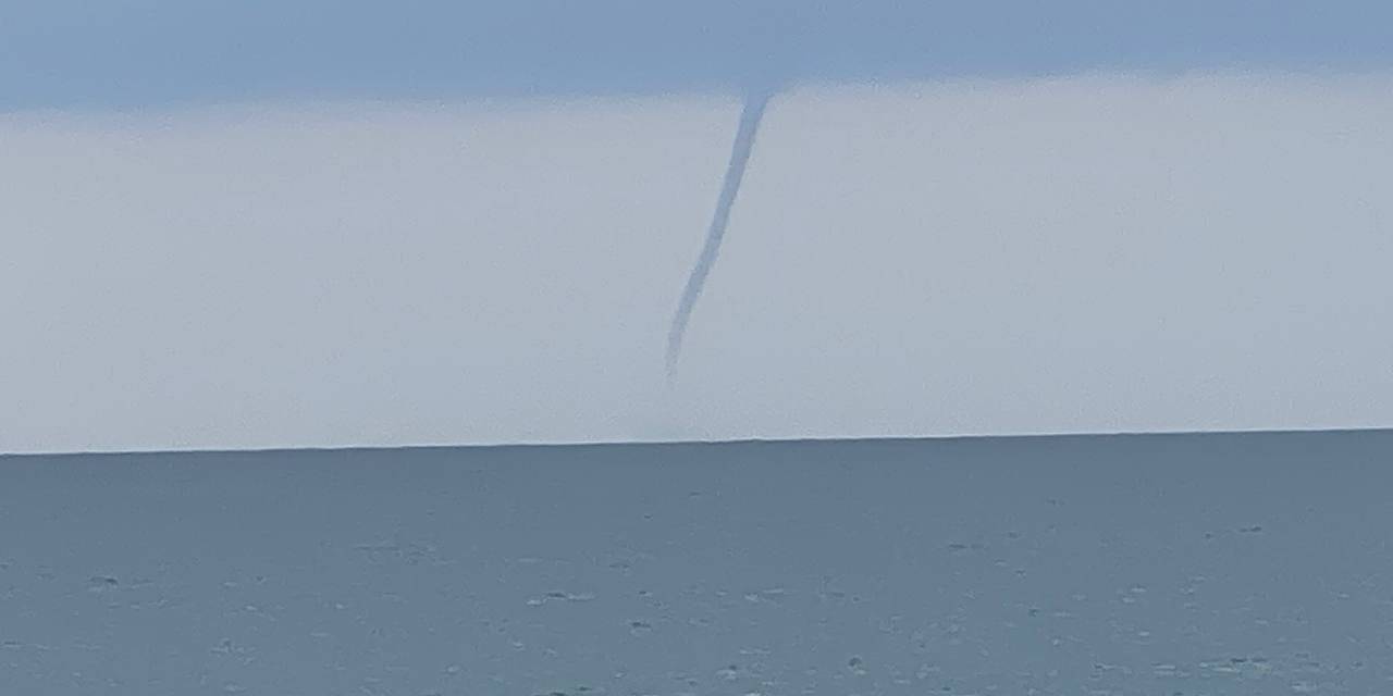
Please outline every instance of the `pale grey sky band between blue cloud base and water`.
[[1393, 79], [0, 117], [0, 451], [1393, 425]]

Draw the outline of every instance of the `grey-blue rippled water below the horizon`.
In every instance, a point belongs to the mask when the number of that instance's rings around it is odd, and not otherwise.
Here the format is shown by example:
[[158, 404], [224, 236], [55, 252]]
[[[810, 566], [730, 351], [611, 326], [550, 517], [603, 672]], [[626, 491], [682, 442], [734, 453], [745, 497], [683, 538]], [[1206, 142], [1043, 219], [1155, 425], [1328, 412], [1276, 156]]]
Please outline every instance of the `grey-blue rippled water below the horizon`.
[[1393, 692], [1393, 432], [0, 458], [0, 692]]

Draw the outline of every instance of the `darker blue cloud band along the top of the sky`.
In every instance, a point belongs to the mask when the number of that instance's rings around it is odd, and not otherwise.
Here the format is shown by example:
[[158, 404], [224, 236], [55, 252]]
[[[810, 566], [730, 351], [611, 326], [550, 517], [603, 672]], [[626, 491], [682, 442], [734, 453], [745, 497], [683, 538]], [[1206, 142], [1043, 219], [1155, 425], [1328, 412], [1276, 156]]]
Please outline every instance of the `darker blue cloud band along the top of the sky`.
[[8, 1], [0, 109], [1393, 64], [1393, 4]]

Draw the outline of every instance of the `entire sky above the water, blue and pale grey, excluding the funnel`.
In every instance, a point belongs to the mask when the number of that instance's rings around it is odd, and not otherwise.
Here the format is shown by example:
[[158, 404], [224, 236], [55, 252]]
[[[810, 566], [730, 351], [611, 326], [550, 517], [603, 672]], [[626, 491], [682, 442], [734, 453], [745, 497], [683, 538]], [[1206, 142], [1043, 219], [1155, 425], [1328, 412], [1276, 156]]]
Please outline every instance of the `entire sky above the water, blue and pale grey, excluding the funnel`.
[[393, 7], [7, 8], [0, 451], [1393, 425], [1383, 4]]

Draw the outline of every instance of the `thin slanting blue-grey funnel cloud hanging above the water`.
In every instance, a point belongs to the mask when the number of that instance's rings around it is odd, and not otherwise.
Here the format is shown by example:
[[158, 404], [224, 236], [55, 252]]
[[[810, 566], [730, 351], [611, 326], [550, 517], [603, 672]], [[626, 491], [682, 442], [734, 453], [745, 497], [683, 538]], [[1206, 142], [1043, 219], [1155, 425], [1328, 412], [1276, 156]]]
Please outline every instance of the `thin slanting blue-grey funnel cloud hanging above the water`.
[[720, 253], [720, 241], [726, 237], [726, 227], [730, 223], [730, 209], [736, 206], [736, 196], [740, 193], [740, 182], [745, 177], [745, 167], [749, 164], [749, 153], [755, 149], [755, 134], [759, 131], [759, 121], [765, 117], [765, 106], [773, 96], [769, 90], [754, 90], [745, 95], [745, 107], [740, 114], [740, 128], [736, 131], [736, 143], [730, 150], [730, 164], [726, 166], [726, 180], [720, 187], [720, 196], [716, 199], [716, 212], [712, 214], [710, 227], [706, 230], [706, 244], [702, 245], [701, 256], [692, 266], [691, 276], [687, 277], [687, 287], [683, 288], [683, 298], [677, 303], [677, 313], [673, 315], [673, 326], [667, 331], [667, 379], [677, 373], [677, 361], [683, 352], [683, 338], [687, 334], [687, 324], [691, 322], [692, 309], [706, 285], [712, 266], [716, 264], [716, 255]]

